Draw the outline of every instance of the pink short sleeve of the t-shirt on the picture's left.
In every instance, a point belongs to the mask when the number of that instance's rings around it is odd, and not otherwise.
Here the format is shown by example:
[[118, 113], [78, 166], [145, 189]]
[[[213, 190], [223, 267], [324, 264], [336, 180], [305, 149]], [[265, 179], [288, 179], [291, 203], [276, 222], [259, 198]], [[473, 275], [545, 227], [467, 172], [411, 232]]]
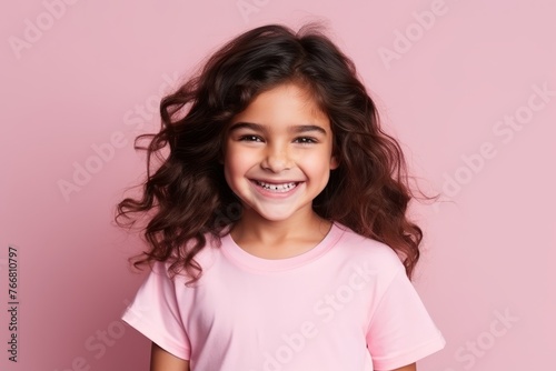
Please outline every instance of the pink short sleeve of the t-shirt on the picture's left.
[[189, 360], [191, 348], [180, 317], [176, 283], [163, 263], [153, 264], [121, 318], [163, 350]]

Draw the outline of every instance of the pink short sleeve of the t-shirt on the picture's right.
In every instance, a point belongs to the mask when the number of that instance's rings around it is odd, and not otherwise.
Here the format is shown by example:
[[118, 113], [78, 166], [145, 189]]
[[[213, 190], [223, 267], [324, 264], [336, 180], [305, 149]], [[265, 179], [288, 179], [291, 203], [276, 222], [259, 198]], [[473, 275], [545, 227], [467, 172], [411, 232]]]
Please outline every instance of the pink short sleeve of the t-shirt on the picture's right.
[[401, 267], [385, 291], [367, 330], [375, 370], [393, 370], [446, 344]]

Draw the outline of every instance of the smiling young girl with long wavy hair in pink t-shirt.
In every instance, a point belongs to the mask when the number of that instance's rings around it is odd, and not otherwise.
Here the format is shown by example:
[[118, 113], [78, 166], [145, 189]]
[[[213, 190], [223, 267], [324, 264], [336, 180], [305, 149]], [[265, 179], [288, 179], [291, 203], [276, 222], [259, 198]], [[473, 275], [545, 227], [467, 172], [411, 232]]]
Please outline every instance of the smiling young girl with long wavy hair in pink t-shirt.
[[416, 370], [445, 345], [409, 281], [400, 147], [315, 27], [237, 37], [160, 114], [142, 198], [117, 215], [149, 215], [123, 320], [152, 371]]

